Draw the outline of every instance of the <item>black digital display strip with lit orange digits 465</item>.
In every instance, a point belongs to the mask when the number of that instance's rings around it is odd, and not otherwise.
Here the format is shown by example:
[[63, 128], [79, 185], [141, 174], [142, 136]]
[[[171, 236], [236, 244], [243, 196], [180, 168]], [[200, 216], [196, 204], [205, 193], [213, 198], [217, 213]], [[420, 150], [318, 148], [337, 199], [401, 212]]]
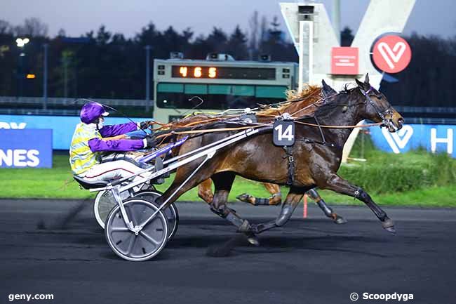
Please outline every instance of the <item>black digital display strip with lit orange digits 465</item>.
[[172, 77], [175, 78], [212, 78], [212, 79], [276, 79], [274, 68], [247, 67], [199, 67], [173, 65]]

